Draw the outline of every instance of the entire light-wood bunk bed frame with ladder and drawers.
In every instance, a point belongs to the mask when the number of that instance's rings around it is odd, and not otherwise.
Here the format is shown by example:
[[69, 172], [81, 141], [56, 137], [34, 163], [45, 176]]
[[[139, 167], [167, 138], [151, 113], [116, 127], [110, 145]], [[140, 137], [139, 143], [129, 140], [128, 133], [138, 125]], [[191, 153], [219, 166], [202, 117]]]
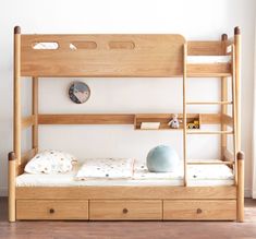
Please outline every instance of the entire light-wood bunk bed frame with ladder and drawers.
[[[34, 49], [37, 43], [57, 43], [58, 49]], [[71, 49], [70, 46], [75, 46]], [[230, 50], [228, 50], [230, 49]], [[23, 35], [14, 28], [14, 150], [9, 154], [9, 219], [78, 220], [237, 220], [244, 218], [244, 154], [241, 152], [240, 93], [241, 33], [221, 40], [186, 41], [181, 35]], [[231, 56], [229, 63], [187, 63], [188, 56]], [[32, 116], [22, 117], [22, 77], [32, 77]], [[187, 105], [220, 105], [219, 113], [199, 113], [202, 124], [220, 124], [220, 131], [183, 130], [184, 187], [16, 187], [15, 177], [38, 152], [40, 124], [134, 124], [145, 119], [164, 122], [168, 113], [41, 115], [38, 110], [39, 77], [182, 77], [183, 126], [193, 115]], [[186, 100], [187, 77], [219, 77], [221, 100]], [[232, 101], [228, 101], [228, 81]], [[232, 105], [232, 116], [228, 115]], [[21, 134], [32, 128], [32, 150], [22, 154]], [[231, 130], [229, 130], [231, 129]], [[169, 129], [171, 130], [171, 129]], [[233, 186], [188, 187], [187, 134], [220, 134], [221, 164], [233, 168]], [[227, 146], [233, 135], [234, 152]], [[193, 163], [204, 164], [204, 162]], [[205, 162], [205, 164], [216, 164]]]

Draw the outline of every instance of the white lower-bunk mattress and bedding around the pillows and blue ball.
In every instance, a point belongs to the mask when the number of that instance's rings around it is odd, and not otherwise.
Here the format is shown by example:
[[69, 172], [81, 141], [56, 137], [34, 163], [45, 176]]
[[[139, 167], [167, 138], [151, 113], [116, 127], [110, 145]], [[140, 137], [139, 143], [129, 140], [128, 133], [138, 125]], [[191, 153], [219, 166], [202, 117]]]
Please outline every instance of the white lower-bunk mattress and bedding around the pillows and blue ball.
[[[31, 175], [16, 177], [17, 187], [83, 187], [83, 186], [183, 186], [182, 167], [175, 172], [149, 172], [145, 164], [136, 162], [132, 179], [75, 180], [81, 165], [69, 174]], [[232, 186], [232, 170], [225, 165], [190, 165], [188, 186]]]

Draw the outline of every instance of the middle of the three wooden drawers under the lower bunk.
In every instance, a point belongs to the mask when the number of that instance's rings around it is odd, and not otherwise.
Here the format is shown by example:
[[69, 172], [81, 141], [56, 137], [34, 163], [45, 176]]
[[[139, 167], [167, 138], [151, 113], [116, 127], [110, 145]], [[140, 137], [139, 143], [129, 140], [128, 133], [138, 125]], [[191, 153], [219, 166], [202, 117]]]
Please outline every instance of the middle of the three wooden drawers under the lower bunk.
[[156, 220], [162, 219], [161, 200], [92, 200], [92, 220]]

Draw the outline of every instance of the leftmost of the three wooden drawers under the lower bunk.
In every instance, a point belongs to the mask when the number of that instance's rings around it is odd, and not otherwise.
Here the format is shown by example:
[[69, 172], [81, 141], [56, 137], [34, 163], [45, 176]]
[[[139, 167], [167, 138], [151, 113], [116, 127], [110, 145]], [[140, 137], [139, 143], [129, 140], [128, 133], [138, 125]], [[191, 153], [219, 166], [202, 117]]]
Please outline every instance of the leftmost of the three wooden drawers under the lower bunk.
[[17, 219], [88, 219], [87, 200], [17, 200]]

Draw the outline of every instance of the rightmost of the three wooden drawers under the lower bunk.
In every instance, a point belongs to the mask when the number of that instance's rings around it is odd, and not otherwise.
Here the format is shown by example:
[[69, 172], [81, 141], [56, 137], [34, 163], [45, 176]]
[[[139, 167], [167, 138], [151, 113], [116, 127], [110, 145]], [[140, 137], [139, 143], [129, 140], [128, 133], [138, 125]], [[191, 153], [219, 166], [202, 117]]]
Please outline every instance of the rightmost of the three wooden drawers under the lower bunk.
[[234, 220], [235, 200], [164, 200], [166, 220]]

